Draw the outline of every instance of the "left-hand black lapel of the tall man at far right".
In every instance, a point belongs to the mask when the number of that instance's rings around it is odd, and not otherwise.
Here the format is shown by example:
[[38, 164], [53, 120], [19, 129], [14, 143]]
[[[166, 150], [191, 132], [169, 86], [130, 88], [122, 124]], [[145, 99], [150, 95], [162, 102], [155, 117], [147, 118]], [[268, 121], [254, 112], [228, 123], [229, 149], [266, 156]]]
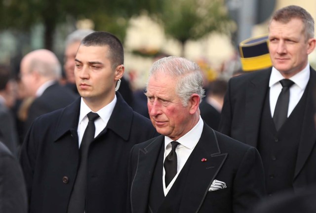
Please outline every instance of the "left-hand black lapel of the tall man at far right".
[[272, 69], [257, 71], [248, 81], [245, 100], [246, 144], [257, 147], [261, 113], [264, 106]]

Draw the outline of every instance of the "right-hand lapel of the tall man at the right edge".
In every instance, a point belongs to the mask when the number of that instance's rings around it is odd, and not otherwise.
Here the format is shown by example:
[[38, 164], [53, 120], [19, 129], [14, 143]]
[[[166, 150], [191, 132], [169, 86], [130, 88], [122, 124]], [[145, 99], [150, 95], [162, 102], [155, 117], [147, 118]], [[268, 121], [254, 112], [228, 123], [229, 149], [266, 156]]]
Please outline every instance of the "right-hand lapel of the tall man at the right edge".
[[[302, 170], [307, 158], [310, 156], [313, 146], [316, 142], [316, 131], [315, 131], [315, 106], [314, 106], [314, 93], [316, 85], [316, 72], [310, 67], [311, 75], [306, 89], [308, 89], [305, 113], [302, 124], [302, 134], [299, 142], [297, 161], [295, 167], [294, 180]], [[310, 168], [312, 169], [312, 168]]]

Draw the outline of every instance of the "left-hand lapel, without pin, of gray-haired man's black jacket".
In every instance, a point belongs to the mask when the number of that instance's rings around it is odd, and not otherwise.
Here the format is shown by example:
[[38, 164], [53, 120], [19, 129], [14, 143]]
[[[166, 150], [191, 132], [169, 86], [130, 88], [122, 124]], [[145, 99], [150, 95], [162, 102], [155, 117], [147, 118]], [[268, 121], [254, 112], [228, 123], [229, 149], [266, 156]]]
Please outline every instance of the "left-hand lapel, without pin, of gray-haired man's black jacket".
[[132, 212], [135, 212], [135, 210], [137, 213], [147, 212], [151, 181], [163, 142], [164, 136], [160, 135], [151, 140], [145, 148], [138, 151], [137, 170], [130, 192]]

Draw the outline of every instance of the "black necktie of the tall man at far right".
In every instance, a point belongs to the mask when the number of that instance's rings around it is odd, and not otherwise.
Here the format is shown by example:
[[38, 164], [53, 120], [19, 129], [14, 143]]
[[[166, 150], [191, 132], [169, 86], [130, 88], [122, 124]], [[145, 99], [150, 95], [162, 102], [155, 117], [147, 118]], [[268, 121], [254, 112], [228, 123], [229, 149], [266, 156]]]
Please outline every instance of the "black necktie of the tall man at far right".
[[273, 114], [273, 121], [276, 125], [276, 130], [278, 131], [285, 120], [287, 119], [288, 103], [290, 100], [290, 87], [294, 84], [290, 79], [280, 80], [282, 85], [281, 93], [279, 94], [276, 101], [276, 109]]

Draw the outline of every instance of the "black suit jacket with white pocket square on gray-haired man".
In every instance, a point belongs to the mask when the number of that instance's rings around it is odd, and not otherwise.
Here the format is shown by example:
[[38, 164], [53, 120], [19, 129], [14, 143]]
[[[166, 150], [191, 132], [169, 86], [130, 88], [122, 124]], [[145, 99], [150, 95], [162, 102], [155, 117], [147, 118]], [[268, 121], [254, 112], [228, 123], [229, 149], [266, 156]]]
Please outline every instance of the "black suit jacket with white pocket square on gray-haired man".
[[[163, 142], [164, 136], [158, 136], [131, 150], [127, 212], [147, 212], [153, 171]], [[195, 149], [186, 186], [178, 194], [182, 197], [179, 213], [245, 213], [264, 196], [263, 166], [255, 148], [204, 123]], [[202, 158], [207, 161], [202, 162]], [[224, 181], [227, 188], [208, 191], [214, 179]], [[172, 200], [167, 201], [169, 205]]]

